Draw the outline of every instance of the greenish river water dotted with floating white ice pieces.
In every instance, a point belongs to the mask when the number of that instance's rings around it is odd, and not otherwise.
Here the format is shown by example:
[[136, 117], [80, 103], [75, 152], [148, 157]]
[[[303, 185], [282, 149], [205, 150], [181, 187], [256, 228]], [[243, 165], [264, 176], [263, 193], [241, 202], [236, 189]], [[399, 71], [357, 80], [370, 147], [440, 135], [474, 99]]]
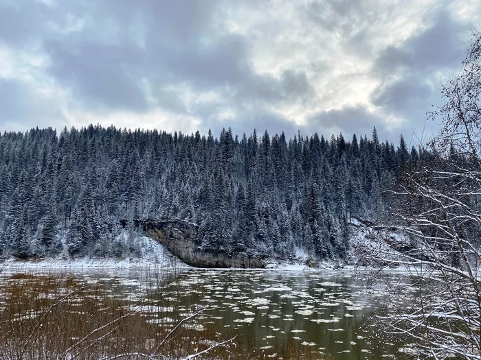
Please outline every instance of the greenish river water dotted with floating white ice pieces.
[[[41, 274], [31, 272], [28, 278], [36, 276]], [[261, 351], [266, 358], [276, 358], [280, 346], [320, 359], [405, 358], [398, 351], [405, 346], [403, 339], [379, 336], [372, 317], [386, 310], [368, 291], [364, 274], [189, 269], [168, 276], [135, 271], [69, 276], [101, 284], [112, 294], [128, 294], [132, 307], [141, 304], [137, 311], [151, 323], [175, 323], [179, 313], [210, 304], [195, 320], [199, 336], [212, 334], [212, 328], [237, 335], [238, 346]], [[4, 284], [19, 277], [0, 274]]]

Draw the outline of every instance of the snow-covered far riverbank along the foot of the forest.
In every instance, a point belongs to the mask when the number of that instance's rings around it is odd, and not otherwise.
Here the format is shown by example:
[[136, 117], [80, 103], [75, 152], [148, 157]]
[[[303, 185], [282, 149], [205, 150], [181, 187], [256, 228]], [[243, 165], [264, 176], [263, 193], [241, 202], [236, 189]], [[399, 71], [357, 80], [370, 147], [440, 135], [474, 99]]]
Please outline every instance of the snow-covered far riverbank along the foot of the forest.
[[[357, 219], [348, 226], [350, 241], [348, 254], [345, 259], [313, 259], [304, 248], [295, 248], [290, 259], [282, 259], [276, 254], [271, 256], [254, 256], [257, 261], [247, 262], [245, 254], [234, 254], [224, 262], [212, 263], [212, 254], [197, 250], [197, 261], [192, 263], [192, 258], [185, 259], [185, 254], [179, 252], [178, 247], [164, 246], [153, 237], [146, 236], [142, 230], [122, 230], [113, 243], [122, 246], [124, 252], [119, 256], [82, 256], [76, 259], [69, 256], [65, 234], [58, 234], [56, 241], [62, 244], [58, 254], [37, 259], [16, 259], [10, 256], [0, 261], [3, 270], [18, 269], [162, 269], [166, 271], [194, 267], [236, 267], [236, 268], [267, 268], [267, 269], [370, 269], [381, 263], [374, 257], [385, 254], [396, 254], [391, 248], [390, 239], [399, 235], [389, 230], [376, 230], [361, 224]], [[179, 237], [172, 238], [178, 241]], [[399, 239], [398, 239], [399, 240]], [[189, 241], [189, 239], [187, 239]], [[185, 243], [185, 241], [184, 241]], [[194, 241], [192, 241], [194, 243]], [[172, 250], [172, 251], [170, 251]], [[207, 256], [206, 256], [207, 255]], [[217, 261], [221, 258], [215, 257]], [[234, 261], [240, 261], [235, 263]], [[187, 263], [184, 261], [187, 260]], [[190, 260], [190, 261], [189, 261]], [[227, 260], [227, 261], [225, 261]]]

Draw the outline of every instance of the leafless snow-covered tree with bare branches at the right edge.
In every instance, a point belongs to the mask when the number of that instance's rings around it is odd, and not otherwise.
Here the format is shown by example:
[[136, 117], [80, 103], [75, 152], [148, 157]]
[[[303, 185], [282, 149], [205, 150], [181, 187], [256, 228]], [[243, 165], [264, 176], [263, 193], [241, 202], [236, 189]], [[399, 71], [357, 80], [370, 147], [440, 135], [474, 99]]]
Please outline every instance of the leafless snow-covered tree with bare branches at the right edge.
[[405, 235], [402, 246], [395, 258], [377, 254], [409, 269], [416, 293], [381, 320], [386, 332], [416, 340], [420, 356], [480, 359], [480, 32], [441, 95], [445, 104], [429, 115], [443, 119], [432, 141], [438, 161], [407, 173], [396, 192], [401, 206], [394, 228]]

